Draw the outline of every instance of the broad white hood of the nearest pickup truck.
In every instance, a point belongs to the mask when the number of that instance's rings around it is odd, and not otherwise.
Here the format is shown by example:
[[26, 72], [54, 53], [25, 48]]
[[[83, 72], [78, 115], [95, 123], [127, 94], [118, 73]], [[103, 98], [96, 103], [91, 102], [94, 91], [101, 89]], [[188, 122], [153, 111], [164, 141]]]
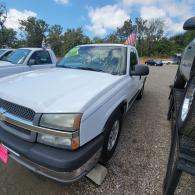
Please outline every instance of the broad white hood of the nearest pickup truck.
[[0, 98], [36, 113], [84, 112], [122, 76], [52, 68], [0, 79]]

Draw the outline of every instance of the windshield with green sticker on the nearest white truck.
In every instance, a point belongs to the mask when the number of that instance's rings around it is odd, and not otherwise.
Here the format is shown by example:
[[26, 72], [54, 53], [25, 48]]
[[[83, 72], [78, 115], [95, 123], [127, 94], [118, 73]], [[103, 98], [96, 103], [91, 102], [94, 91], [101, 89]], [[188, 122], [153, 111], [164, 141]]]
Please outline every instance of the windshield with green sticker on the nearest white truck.
[[122, 75], [126, 72], [126, 47], [77, 46], [57, 66]]

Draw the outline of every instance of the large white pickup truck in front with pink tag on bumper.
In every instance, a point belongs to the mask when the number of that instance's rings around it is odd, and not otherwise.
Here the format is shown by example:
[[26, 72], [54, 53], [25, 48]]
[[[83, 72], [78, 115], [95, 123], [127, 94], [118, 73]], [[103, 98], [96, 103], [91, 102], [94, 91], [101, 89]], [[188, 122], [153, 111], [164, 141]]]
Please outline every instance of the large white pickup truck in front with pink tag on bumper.
[[81, 178], [113, 155], [148, 74], [134, 47], [92, 44], [56, 68], [1, 78], [0, 158], [60, 182]]

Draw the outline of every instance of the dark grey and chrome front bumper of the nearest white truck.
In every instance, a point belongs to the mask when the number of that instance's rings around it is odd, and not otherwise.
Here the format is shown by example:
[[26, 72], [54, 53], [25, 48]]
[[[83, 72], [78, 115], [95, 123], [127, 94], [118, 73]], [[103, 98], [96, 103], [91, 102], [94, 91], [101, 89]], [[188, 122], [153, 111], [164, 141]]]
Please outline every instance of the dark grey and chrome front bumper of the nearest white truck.
[[85, 176], [98, 162], [103, 135], [76, 151], [67, 151], [40, 143], [30, 143], [0, 129], [0, 142], [9, 157], [24, 167], [63, 183]]

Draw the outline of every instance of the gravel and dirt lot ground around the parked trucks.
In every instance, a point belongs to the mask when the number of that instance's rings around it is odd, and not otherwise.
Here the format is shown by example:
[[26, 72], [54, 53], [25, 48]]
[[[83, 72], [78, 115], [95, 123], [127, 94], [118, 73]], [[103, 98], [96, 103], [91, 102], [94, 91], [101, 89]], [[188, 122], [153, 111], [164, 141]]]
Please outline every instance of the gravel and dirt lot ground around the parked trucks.
[[[150, 67], [144, 97], [124, 120], [117, 150], [107, 165], [108, 176], [100, 187], [86, 178], [71, 185], [59, 184], [10, 160], [8, 166], [0, 164], [0, 195], [161, 195], [170, 144], [167, 98], [176, 68]], [[190, 177], [184, 176], [180, 186], [176, 194], [193, 194]]]

